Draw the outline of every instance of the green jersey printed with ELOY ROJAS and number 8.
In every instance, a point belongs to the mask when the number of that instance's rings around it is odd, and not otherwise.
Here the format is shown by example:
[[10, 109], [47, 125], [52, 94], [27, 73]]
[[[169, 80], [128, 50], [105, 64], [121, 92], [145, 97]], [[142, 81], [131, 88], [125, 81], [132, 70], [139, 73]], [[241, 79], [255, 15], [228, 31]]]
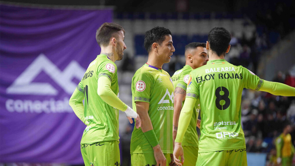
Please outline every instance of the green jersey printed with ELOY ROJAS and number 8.
[[199, 153], [246, 148], [241, 127], [243, 88], [258, 91], [263, 80], [224, 59], [208, 61], [191, 72], [186, 97], [200, 100]]

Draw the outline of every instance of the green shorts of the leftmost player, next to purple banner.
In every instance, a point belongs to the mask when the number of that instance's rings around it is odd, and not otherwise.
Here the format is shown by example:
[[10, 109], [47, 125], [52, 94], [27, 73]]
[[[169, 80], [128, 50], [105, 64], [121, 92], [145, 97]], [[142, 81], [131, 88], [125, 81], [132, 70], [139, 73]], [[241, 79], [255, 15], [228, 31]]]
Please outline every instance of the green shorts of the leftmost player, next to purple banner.
[[105, 141], [94, 144], [81, 144], [85, 166], [120, 165], [119, 141]]

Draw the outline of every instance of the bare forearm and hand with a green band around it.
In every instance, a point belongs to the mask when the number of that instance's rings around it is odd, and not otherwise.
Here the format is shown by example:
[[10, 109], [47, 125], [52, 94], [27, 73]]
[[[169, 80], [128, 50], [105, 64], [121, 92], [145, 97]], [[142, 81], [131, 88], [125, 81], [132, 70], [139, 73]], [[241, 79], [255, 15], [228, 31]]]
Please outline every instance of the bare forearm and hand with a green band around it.
[[157, 162], [157, 166], [166, 165], [166, 157], [164, 156], [161, 147], [159, 145], [158, 138], [155, 134], [151, 119], [148, 115], [149, 103], [136, 101], [136, 112], [140, 115], [142, 121], [141, 130], [144, 132], [144, 136], [154, 149], [154, 156]]

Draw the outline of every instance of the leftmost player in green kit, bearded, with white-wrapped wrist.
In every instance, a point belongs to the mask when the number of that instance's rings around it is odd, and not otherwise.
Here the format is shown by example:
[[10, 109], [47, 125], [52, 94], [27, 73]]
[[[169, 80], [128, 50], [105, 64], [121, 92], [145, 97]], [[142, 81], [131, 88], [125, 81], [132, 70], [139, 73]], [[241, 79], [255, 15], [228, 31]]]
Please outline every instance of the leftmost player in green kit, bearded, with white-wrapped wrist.
[[[130, 123], [140, 116], [119, 97], [116, 60], [123, 57], [126, 45], [122, 26], [105, 22], [96, 31], [101, 53], [93, 60], [75, 89], [69, 104], [87, 125], [81, 139], [81, 153], [85, 165], [120, 165], [119, 110], [126, 113]], [[84, 100], [84, 105], [83, 101]]]

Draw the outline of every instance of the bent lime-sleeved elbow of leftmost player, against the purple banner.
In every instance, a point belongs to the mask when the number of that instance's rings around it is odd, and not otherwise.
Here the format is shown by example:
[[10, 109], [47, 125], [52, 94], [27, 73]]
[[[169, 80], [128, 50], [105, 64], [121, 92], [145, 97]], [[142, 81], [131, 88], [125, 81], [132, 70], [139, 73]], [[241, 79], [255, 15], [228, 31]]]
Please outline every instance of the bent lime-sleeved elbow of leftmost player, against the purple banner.
[[69, 105], [72, 107], [74, 110], [74, 113], [76, 116], [84, 123], [88, 124], [88, 121], [84, 118], [84, 105], [83, 105], [83, 100], [84, 100], [84, 93], [79, 91], [77, 88], [75, 89], [74, 93], [72, 94], [70, 100], [69, 100]]

